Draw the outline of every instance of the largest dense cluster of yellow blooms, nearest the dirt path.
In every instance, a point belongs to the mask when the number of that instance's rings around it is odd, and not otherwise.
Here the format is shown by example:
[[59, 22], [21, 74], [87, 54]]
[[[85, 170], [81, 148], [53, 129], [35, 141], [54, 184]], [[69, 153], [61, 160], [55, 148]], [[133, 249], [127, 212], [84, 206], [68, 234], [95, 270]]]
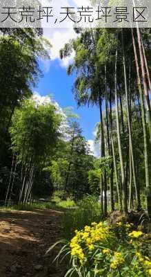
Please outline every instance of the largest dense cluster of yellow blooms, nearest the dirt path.
[[[92, 222], [91, 226], [85, 226], [81, 231], [75, 231], [76, 235], [70, 242], [71, 255], [77, 256], [80, 262], [83, 263], [85, 255], [83, 253], [83, 247], [87, 247], [88, 251], [94, 250], [94, 244], [106, 240], [109, 234], [109, 227], [104, 226], [103, 222], [99, 224]], [[108, 249], [104, 249], [108, 251]]]

